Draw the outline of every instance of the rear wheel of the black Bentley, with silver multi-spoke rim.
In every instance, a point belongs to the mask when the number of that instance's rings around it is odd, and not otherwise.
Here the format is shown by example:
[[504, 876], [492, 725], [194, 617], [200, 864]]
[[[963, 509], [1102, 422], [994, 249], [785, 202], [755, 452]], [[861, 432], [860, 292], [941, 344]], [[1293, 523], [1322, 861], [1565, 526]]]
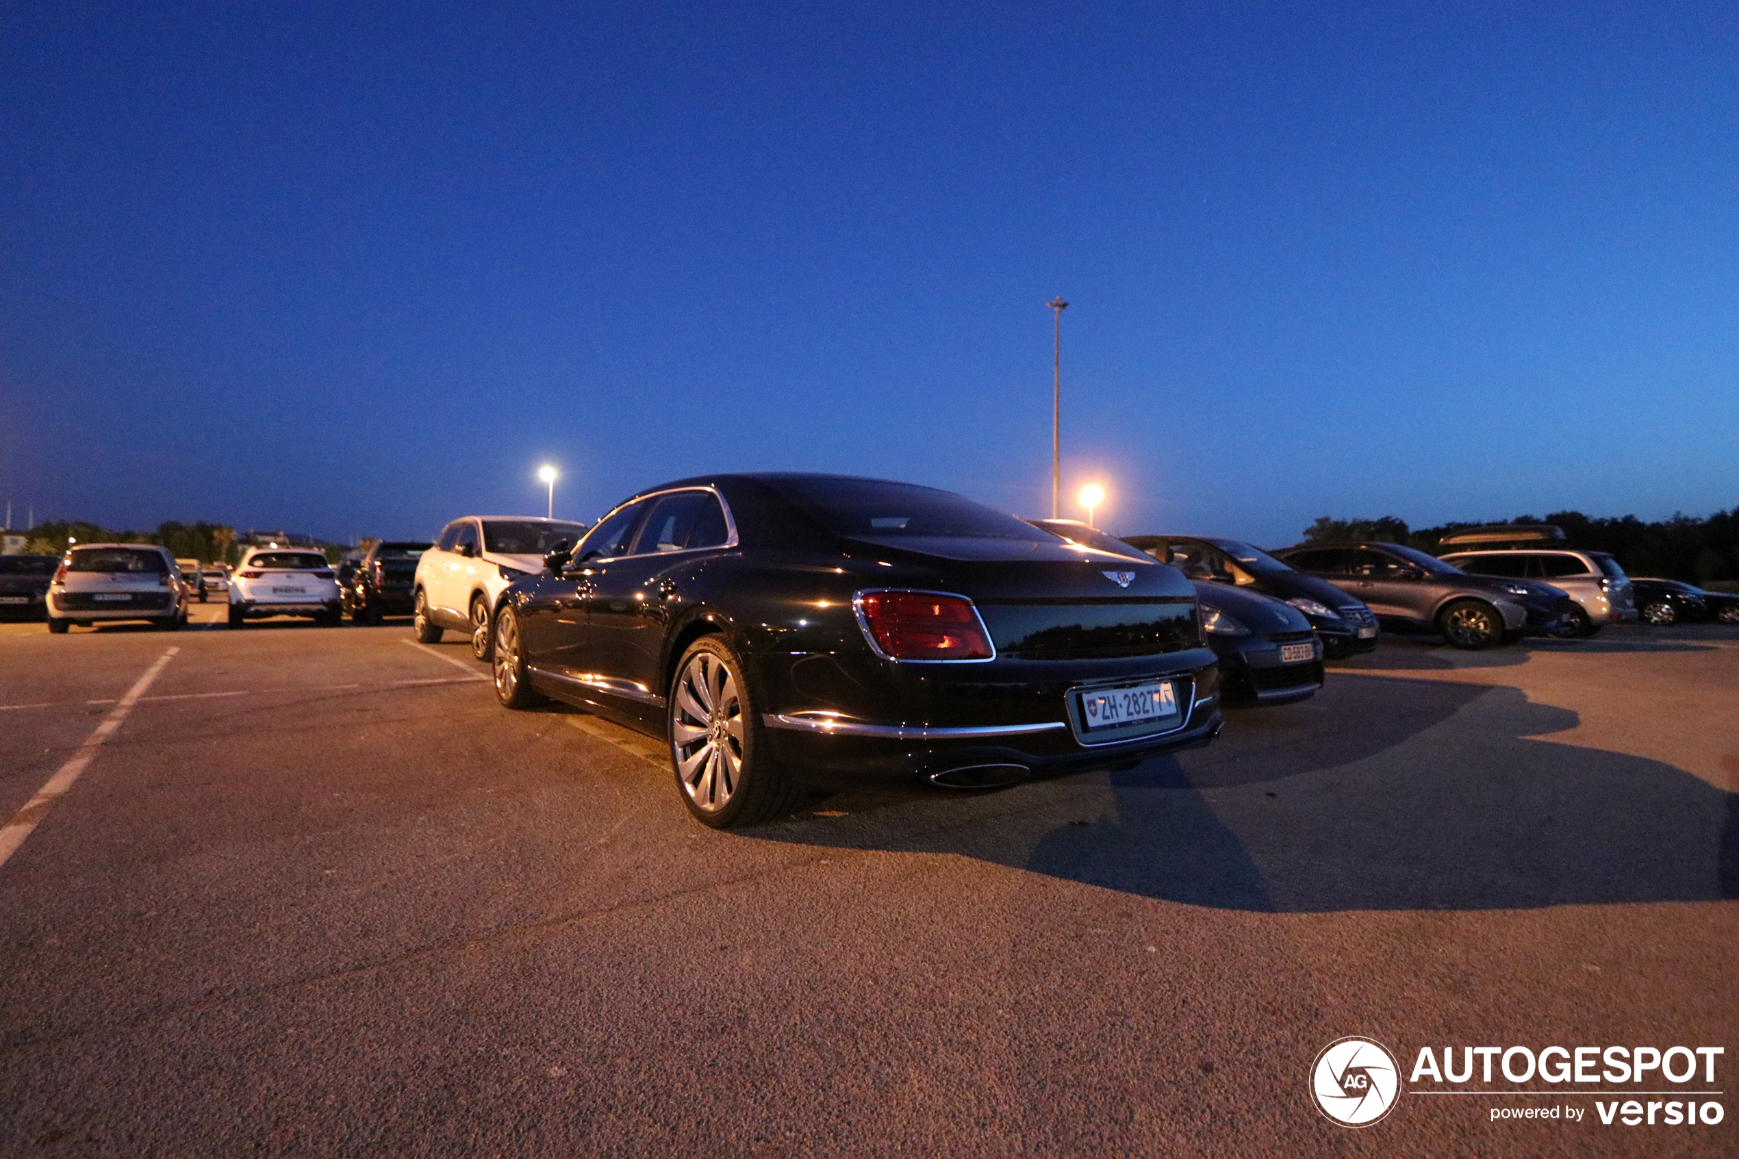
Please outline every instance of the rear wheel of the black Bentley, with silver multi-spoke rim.
[[774, 763], [743, 662], [718, 636], [682, 653], [664, 719], [676, 794], [703, 825], [755, 825], [802, 805], [807, 789]]

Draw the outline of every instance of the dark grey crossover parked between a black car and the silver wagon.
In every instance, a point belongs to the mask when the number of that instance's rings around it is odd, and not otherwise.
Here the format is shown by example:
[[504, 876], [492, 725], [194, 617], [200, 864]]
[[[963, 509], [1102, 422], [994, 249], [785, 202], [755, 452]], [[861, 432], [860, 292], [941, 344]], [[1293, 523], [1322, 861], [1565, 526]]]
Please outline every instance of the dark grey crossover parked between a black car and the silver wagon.
[[1363, 599], [1384, 624], [1440, 632], [1457, 648], [1567, 636], [1574, 601], [1549, 584], [1468, 575], [1402, 544], [1303, 544], [1269, 553]]

